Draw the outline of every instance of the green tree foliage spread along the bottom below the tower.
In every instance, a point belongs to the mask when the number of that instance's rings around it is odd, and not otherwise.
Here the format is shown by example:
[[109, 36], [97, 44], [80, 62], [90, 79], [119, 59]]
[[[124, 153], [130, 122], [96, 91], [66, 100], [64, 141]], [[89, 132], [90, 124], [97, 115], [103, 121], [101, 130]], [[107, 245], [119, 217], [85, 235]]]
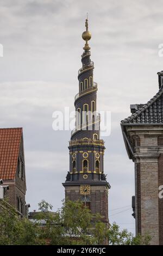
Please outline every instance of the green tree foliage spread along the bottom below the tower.
[[136, 236], [116, 223], [106, 225], [79, 200], [66, 201], [57, 212], [45, 200], [34, 221], [20, 218], [13, 208], [0, 209], [0, 245], [148, 245], [151, 237]]

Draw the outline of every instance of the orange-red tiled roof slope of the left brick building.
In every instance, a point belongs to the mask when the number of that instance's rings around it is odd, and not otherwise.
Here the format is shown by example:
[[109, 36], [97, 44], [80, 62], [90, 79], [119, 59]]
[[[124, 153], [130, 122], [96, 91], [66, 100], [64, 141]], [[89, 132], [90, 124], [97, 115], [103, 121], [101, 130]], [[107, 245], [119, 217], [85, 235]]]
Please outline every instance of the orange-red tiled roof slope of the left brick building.
[[15, 178], [22, 128], [0, 129], [0, 179]]

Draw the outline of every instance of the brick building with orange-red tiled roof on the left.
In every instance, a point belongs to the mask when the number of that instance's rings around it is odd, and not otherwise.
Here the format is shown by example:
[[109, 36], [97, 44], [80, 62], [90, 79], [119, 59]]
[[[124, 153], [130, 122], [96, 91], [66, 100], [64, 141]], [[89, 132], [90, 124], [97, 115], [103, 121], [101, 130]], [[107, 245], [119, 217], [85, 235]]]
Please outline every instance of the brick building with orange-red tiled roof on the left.
[[22, 128], [0, 129], [0, 180], [1, 198], [28, 217]]

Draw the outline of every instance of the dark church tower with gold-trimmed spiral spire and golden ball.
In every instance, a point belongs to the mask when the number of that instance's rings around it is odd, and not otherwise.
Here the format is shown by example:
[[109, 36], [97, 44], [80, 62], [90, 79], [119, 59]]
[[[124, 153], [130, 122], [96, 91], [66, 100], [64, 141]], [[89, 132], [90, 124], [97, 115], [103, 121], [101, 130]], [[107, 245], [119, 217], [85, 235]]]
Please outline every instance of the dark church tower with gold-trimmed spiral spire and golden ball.
[[67, 173], [65, 198], [82, 200], [92, 214], [99, 212], [108, 223], [109, 183], [104, 174], [104, 141], [100, 139], [100, 115], [97, 113], [97, 83], [93, 81], [94, 63], [91, 61], [88, 40], [88, 21], [82, 38], [85, 40], [82, 68], [78, 72], [79, 93], [75, 96], [76, 127], [69, 143], [70, 171]]

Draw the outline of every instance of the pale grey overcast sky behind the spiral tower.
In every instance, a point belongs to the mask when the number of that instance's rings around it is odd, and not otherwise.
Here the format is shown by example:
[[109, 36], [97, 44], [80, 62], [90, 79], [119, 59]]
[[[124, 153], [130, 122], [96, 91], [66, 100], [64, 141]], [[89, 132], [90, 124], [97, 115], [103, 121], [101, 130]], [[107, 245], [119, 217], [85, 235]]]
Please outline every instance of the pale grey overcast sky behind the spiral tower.
[[134, 232], [134, 164], [120, 121], [131, 103], [146, 103], [158, 92], [161, 7], [161, 0], [0, 0], [0, 126], [23, 127], [30, 210], [41, 199], [56, 210], [64, 198], [70, 131], [53, 131], [52, 113], [74, 109], [88, 12], [97, 108], [111, 111], [111, 135], [104, 137], [109, 218]]

